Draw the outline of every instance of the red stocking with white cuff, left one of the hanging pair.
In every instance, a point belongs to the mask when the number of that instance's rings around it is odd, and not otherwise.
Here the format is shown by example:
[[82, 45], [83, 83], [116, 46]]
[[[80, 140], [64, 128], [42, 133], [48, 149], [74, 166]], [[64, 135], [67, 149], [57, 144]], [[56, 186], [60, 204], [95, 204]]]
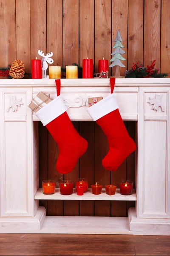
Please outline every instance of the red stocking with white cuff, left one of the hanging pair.
[[56, 169], [62, 174], [74, 169], [79, 157], [87, 150], [88, 143], [75, 130], [60, 95], [60, 79], [56, 80], [57, 98], [41, 108], [36, 116], [59, 146]]

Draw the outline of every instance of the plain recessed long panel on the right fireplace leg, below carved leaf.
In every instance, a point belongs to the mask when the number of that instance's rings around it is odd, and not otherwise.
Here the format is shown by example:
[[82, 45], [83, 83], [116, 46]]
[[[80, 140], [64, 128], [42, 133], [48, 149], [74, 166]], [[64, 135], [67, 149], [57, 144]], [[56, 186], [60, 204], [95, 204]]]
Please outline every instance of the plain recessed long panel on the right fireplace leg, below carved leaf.
[[144, 122], [143, 215], [147, 217], [167, 214], [166, 125], [162, 121]]

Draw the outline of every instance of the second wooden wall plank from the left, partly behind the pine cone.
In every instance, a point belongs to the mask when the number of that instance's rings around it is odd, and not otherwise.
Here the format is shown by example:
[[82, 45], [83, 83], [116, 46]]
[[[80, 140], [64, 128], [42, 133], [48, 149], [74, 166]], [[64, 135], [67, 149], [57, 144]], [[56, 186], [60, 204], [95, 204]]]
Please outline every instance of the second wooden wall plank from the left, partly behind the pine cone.
[[24, 62], [26, 73], [31, 73], [30, 0], [16, 0], [17, 59]]

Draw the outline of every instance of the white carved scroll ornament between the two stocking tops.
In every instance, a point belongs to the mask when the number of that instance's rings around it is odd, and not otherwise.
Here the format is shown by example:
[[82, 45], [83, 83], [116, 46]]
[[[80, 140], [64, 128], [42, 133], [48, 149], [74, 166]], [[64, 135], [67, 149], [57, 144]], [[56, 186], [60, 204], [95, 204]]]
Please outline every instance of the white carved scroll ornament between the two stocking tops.
[[74, 98], [74, 100], [64, 99], [64, 103], [67, 108], [80, 108], [82, 106], [88, 106], [89, 97], [90, 96], [84, 93], [83, 95]]

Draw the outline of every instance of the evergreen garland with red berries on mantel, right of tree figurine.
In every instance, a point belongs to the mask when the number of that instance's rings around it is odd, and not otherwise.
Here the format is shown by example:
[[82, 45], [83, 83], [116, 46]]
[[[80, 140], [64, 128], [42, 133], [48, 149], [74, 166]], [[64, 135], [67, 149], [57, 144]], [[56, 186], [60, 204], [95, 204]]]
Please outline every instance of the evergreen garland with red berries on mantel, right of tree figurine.
[[163, 78], [167, 77], [168, 73], [158, 73], [158, 69], [154, 69], [155, 67], [155, 62], [154, 60], [152, 64], [147, 67], [142, 67], [142, 65], [138, 65], [138, 62], [133, 63], [133, 66], [131, 69], [128, 71], [125, 71], [125, 78], [148, 78], [148, 77], [153, 77], [153, 78]]

